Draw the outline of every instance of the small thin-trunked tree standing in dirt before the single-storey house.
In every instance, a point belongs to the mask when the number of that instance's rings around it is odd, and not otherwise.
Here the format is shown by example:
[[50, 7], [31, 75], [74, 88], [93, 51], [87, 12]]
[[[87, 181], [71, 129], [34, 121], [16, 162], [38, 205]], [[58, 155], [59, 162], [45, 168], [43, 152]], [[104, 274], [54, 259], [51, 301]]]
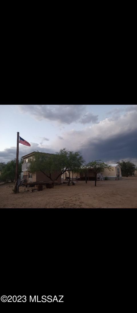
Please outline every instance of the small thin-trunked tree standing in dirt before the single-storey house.
[[112, 167], [110, 165], [105, 164], [101, 160], [95, 160], [92, 162], [87, 163], [87, 168], [93, 169], [95, 173], [95, 186], [96, 186], [96, 181], [97, 181], [97, 173], [103, 172], [105, 169], [112, 171]]

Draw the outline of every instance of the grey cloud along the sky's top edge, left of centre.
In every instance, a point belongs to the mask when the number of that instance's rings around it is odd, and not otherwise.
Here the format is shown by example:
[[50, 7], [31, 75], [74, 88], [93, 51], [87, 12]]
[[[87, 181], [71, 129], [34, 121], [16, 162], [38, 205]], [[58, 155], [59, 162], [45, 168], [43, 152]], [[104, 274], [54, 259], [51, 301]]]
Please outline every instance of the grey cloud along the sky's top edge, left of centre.
[[71, 124], [86, 114], [86, 105], [18, 105], [20, 112], [28, 113], [37, 120], [47, 119]]

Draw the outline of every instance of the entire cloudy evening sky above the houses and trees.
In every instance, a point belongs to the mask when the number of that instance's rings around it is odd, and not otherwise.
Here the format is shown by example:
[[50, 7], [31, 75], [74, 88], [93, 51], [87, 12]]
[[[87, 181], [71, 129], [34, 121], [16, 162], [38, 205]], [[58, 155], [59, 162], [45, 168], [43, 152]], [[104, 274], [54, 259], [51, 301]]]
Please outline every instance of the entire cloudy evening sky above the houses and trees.
[[86, 162], [137, 165], [137, 105], [0, 105], [0, 162], [33, 151], [80, 151]]

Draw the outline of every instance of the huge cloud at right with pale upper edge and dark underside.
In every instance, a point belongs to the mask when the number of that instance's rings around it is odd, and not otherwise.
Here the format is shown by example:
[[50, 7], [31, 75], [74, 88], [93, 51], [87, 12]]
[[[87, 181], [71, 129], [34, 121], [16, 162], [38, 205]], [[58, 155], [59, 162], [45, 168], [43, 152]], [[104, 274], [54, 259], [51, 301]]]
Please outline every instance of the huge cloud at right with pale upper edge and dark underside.
[[123, 159], [137, 160], [137, 111], [135, 110], [119, 117], [106, 118], [81, 130], [66, 131], [62, 133], [64, 141], [56, 140], [53, 146], [81, 151], [87, 162], [98, 159], [104, 162], [109, 160], [109, 163], [110, 160], [114, 163]]

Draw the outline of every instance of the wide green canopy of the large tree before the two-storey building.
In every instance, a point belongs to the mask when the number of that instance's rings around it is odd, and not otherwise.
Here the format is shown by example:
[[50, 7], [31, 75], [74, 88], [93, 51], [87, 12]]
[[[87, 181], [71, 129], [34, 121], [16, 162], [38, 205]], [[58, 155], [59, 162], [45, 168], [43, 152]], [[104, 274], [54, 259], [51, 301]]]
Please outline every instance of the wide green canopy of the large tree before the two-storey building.
[[64, 148], [56, 152], [56, 154], [46, 154], [37, 151], [29, 162], [30, 172], [40, 171], [53, 180], [53, 173], [57, 171], [57, 176], [54, 178], [57, 180], [66, 171], [75, 171], [79, 168], [83, 162], [83, 157], [80, 152], [72, 152]]

